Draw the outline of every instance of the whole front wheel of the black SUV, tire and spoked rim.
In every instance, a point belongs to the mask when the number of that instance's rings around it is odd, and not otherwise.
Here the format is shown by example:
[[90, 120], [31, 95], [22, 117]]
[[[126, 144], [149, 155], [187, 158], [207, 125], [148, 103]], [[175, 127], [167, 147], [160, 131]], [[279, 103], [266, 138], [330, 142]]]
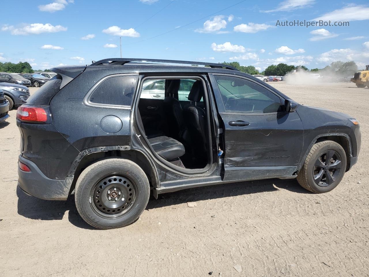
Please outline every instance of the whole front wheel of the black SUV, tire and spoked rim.
[[314, 193], [337, 187], [346, 171], [346, 153], [335, 141], [315, 143], [297, 175], [301, 187]]

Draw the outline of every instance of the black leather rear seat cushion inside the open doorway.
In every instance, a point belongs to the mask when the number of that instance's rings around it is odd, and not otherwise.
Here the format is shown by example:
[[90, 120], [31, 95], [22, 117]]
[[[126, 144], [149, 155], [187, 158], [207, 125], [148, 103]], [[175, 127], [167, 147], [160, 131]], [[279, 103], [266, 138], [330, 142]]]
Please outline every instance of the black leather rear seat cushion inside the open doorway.
[[161, 136], [149, 139], [151, 147], [154, 149], [156, 154], [165, 160], [175, 160], [184, 155], [184, 146], [174, 138]]

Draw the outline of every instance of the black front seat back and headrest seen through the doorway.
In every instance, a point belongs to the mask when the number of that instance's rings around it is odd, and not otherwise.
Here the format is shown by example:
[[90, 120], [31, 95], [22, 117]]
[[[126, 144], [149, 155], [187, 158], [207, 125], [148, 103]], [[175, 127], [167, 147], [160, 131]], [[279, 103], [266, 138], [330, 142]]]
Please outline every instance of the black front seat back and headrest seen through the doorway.
[[[204, 95], [204, 86], [201, 81], [193, 83], [188, 100], [199, 102]], [[186, 105], [183, 108], [183, 118], [186, 125], [183, 139], [186, 145], [191, 146], [192, 155], [199, 160], [207, 160], [206, 147], [206, 113], [201, 107]]]

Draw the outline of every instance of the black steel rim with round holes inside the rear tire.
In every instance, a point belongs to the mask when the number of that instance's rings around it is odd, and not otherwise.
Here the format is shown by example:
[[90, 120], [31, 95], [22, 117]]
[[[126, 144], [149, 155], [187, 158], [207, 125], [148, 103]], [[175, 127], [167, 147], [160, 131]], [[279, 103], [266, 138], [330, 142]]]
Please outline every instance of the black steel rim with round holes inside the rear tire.
[[114, 174], [101, 179], [91, 191], [93, 210], [105, 218], [118, 218], [128, 213], [136, 201], [137, 189], [124, 176]]

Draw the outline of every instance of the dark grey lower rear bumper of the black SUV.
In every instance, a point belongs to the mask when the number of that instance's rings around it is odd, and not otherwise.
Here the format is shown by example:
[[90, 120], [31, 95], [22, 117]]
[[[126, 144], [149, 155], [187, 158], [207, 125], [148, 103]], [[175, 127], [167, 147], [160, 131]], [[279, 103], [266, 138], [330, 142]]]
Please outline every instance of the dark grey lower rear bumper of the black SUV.
[[55, 180], [46, 177], [35, 163], [19, 156], [19, 161], [30, 168], [30, 172], [18, 167], [18, 187], [26, 194], [45, 200], [66, 200], [73, 178]]

